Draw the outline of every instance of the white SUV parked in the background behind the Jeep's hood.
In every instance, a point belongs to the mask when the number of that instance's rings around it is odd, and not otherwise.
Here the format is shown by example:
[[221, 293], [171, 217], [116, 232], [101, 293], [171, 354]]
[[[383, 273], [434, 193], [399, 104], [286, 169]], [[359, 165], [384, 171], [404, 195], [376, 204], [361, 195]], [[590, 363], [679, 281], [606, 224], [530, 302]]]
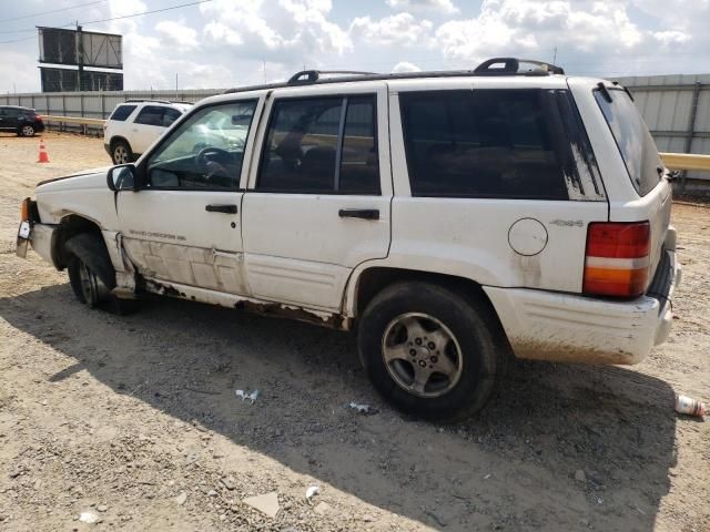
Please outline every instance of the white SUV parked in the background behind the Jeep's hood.
[[113, 164], [135, 161], [192, 106], [189, 102], [126, 100], [103, 126], [103, 145]]

